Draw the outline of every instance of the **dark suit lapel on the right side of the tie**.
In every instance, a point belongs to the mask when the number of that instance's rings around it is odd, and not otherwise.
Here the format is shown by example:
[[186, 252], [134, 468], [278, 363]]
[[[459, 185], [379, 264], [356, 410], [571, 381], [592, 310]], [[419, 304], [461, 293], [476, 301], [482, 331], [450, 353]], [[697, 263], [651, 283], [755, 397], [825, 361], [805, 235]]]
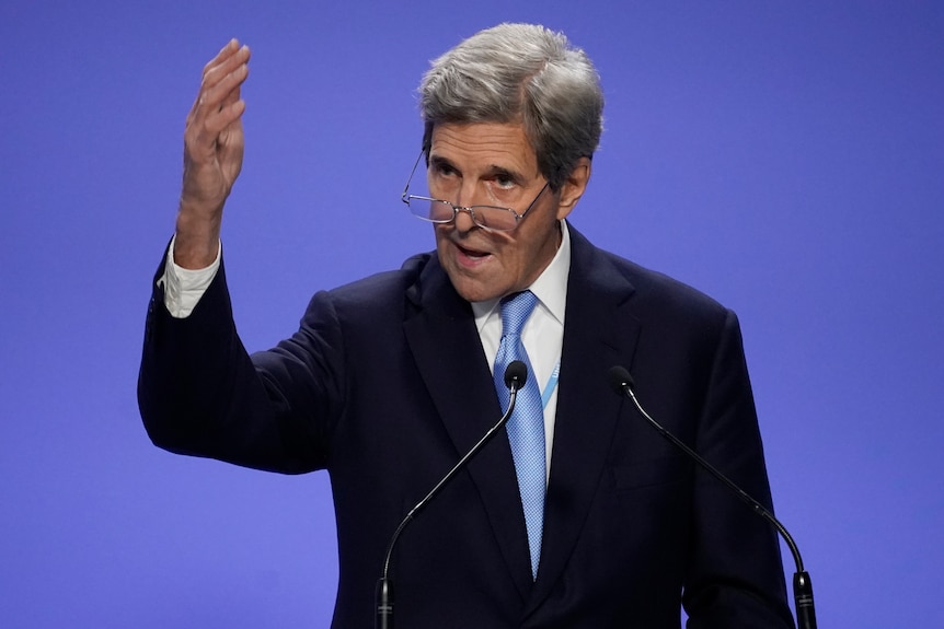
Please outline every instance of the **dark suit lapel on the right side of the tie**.
[[544, 538], [528, 611], [550, 594], [580, 535], [622, 403], [610, 386], [608, 371], [614, 364], [631, 365], [638, 336], [638, 324], [628, 306], [633, 287], [573, 228], [571, 240]]

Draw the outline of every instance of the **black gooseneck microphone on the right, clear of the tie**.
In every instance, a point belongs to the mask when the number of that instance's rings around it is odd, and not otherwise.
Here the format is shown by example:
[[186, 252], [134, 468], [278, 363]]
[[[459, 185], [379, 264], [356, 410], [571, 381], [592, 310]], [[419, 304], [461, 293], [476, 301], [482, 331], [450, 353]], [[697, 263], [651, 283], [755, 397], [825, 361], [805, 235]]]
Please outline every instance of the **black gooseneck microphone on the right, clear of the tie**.
[[632, 401], [633, 406], [636, 407], [636, 410], [643, 418], [649, 422], [649, 424], [656, 429], [656, 431], [666, 438], [672, 445], [684, 452], [692, 461], [698, 463], [703, 469], [709, 471], [712, 476], [722, 481], [725, 486], [728, 487], [732, 491], [737, 494], [744, 502], [747, 503], [748, 506], [753, 510], [755, 513], [767, 520], [770, 524], [776, 528], [776, 532], [783, 537], [783, 540], [786, 541], [786, 545], [790, 547], [790, 552], [793, 555], [793, 561], [796, 563], [796, 572], [793, 575], [793, 598], [794, 605], [796, 609], [796, 622], [798, 629], [816, 629], [816, 610], [813, 606], [813, 583], [809, 581], [809, 574], [803, 569], [803, 559], [799, 557], [799, 549], [796, 547], [796, 543], [794, 543], [793, 537], [786, 531], [786, 527], [781, 524], [781, 522], [773, 516], [773, 513], [770, 512], [763, 504], [755, 500], [751, 496], [749, 496], [745, 490], [735, 485], [728, 477], [718, 471], [714, 466], [712, 466], [709, 462], [702, 458], [695, 451], [686, 445], [680, 439], [678, 439], [675, 434], [666, 430], [659, 422], [653, 419], [648, 412], [640, 404], [640, 400], [636, 399], [635, 394], [635, 384], [633, 383], [633, 376], [630, 375], [630, 372], [625, 370], [625, 368], [621, 365], [613, 365], [610, 368], [610, 383], [613, 386], [613, 389], [619, 395], [628, 396]]

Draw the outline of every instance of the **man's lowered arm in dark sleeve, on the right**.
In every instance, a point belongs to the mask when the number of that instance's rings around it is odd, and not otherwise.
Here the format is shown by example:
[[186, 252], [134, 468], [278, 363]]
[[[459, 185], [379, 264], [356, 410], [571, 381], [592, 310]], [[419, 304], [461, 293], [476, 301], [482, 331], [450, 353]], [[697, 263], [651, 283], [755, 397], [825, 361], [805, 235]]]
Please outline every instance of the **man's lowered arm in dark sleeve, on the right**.
[[[773, 509], [740, 327], [730, 311], [715, 347], [695, 450]], [[693, 500], [698, 531], [683, 599], [689, 629], [793, 627], [770, 523], [702, 470]]]

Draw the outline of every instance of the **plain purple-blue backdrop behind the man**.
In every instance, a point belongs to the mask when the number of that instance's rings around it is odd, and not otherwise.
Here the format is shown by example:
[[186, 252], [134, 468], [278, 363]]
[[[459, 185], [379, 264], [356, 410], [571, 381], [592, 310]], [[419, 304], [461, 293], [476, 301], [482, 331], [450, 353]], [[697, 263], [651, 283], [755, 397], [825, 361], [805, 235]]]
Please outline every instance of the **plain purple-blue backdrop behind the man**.
[[223, 242], [262, 349], [314, 290], [433, 246], [399, 201], [415, 86], [500, 21], [602, 75], [574, 224], [740, 315], [820, 627], [944, 626], [944, 4], [402, 4], [0, 3], [0, 626], [327, 625], [326, 475], [174, 456], [138, 418], [184, 117], [247, 43]]

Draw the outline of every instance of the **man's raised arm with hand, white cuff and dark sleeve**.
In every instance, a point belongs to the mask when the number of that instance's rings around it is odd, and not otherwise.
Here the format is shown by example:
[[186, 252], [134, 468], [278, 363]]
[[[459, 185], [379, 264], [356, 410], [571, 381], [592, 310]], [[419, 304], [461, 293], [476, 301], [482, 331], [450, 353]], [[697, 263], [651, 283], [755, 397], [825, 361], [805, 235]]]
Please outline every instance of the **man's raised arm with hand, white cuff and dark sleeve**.
[[299, 400], [290, 392], [312, 388], [297, 382], [314, 381], [304, 352], [316, 351], [316, 342], [300, 348], [301, 356], [283, 352], [270, 360], [284, 366], [284, 382], [261, 376], [235, 331], [220, 259], [223, 205], [242, 165], [240, 86], [247, 60], [247, 48], [234, 39], [227, 44], [204, 68], [187, 116], [176, 232], [152, 286], [138, 404], [161, 447], [307, 471], [323, 466], [321, 433], [307, 420], [327, 413], [312, 410], [318, 395]]

